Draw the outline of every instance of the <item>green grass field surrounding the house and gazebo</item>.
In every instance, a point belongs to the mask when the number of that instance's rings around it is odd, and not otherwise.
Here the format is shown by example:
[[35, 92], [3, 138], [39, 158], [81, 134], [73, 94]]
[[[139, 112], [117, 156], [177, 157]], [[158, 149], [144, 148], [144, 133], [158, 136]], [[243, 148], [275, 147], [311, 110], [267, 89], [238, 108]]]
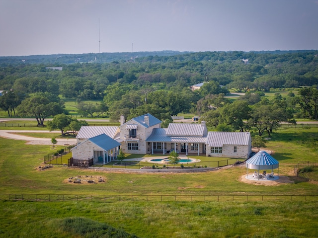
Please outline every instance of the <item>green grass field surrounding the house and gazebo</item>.
[[[0, 237], [85, 237], [63, 230], [65, 218], [83, 218], [122, 228], [138, 237], [317, 237], [317, 199], [292, 200], [289, 195], [318, 195], [318, 183], [295, 177], [299, 162], [317, 161], [317, 128], [281, 128], [273, 133], [267, 150], [280, 163], [279, 175], [292, 183], [264, 186], [244, 183], [244, 166], [195, 173], [118, 173], [54, 166], [39, 170], [50, 146], [25, 145], [0, 138]], [[62, 147], [61, 147], [62, 148]], [[58, 148], [59, 149], [59, 148]], [[131, 156], [133, 157], [133, 156]], [[203, 158], [202, 158], [203, 159]], [[208, 158], [211, 159], [211, 158]], [[74, 176], [101, 176], [104, 182], [74, 184]], [[7, 194], [106, 195], [100, 202], [8, 201]], [[6, 195], [5, 195], [6, 194]], [[136, 200], [132, 200], [134, 195]], [[167, 195], [168, 201], [141, 200], [138, 196]], [[178, 196], [227, 195], [221, 201], [171, 201]], [[258, 195], [251, 201], [232, 196]], [[278, 200], [262, 195], [286, 195]], [[117, 201], [118, 196], [122, 200]], [[4, 198], [4, 199], [3, 199]], [[172, 198], [172, 199], [171, 199]], [[87, 236], [86, 236], [87, 237]]]

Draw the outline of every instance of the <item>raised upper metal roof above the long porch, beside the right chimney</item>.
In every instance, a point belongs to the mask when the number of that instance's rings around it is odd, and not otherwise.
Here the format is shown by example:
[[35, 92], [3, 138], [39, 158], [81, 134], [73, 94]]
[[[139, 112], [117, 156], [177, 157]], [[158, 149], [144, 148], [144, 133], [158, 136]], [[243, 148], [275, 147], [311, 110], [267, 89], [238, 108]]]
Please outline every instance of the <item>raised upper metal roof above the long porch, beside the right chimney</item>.
[[202, 124], [169, 123], [166, 134], [169, 136], [206, 136], [207, 128]]

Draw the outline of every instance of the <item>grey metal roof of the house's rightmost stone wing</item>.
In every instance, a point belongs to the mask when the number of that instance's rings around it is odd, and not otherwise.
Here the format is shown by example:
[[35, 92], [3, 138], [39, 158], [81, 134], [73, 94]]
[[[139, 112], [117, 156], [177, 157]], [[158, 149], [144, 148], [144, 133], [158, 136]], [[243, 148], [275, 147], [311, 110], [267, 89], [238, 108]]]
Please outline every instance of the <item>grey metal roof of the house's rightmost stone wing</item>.
[[206, 144], [209, 147], [223, 147], [223, 145], [249, 145], [249, 132], [209, 132]]

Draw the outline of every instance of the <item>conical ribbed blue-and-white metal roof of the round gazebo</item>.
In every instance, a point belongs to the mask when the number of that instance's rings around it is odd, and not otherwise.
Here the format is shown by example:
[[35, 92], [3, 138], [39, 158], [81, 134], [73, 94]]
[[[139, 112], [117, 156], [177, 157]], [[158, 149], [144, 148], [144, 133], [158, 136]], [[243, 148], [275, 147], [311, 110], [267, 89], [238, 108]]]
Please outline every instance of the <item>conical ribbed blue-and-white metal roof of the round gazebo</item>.
[[260, 151], [246, 160], [246, 167], [251, 169], [274, 169], [278, 166], [279, 162], [265, 151]]

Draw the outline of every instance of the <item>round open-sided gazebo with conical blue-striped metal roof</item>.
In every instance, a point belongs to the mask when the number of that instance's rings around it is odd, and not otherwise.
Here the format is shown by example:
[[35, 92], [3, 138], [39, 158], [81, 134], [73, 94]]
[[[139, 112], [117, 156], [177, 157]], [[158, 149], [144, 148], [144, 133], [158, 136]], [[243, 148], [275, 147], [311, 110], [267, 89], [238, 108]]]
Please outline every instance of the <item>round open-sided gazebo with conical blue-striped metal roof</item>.
[[[274, 159], [271, 155], [269, 155], [265, 151], [260, 151], [253, 157], [249, 158], [246, 160], [246, 178], [248, 179], [248, 169], [256, 169], [257, 172], [255, 171], [251, 177], [251, 179], [257, 178], [258, 180], [261, 178], [265, 179], [277, 179], [278, 176], [274, 176], [274, 168], [279, 167], [279, 162]], [[259, 170], [266, 170], [266, 169], [271, 169], [272, 172], [270, 174], [260, 174]]]

